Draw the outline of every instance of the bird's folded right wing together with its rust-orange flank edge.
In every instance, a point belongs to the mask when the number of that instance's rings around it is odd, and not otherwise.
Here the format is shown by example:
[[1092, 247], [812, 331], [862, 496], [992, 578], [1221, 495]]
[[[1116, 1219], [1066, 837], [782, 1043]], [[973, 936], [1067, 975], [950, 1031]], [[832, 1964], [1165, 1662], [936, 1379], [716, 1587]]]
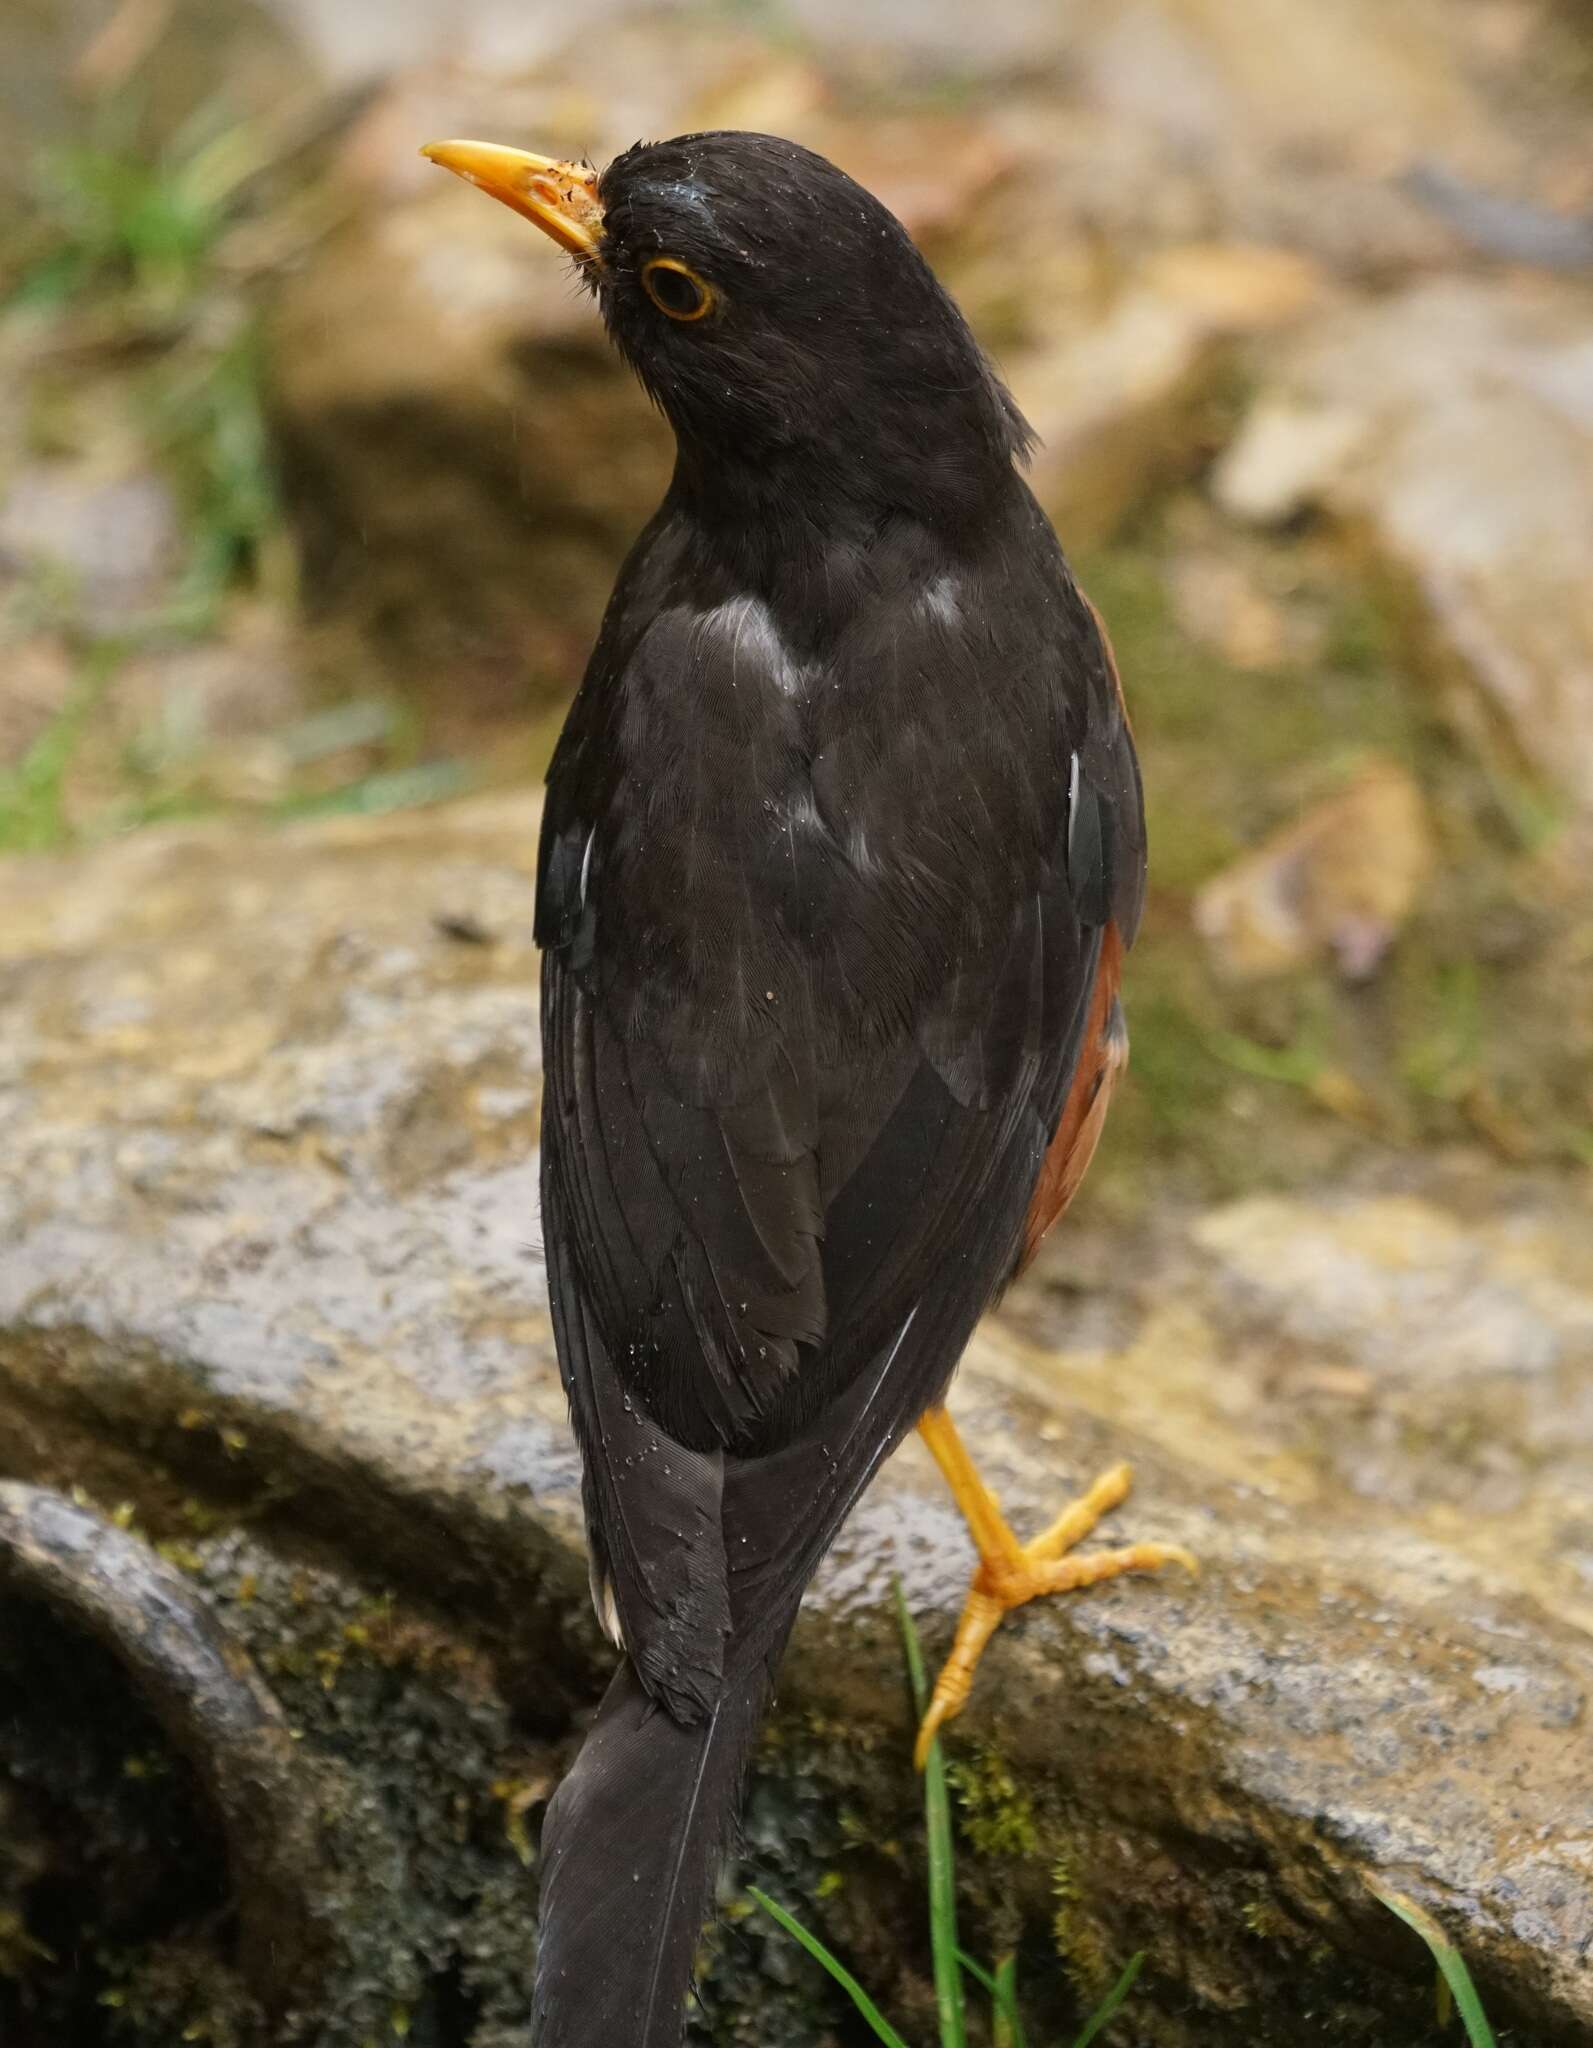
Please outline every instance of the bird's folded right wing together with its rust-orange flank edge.
[[819, 1401], [780, 1450], [727, 1460], [737, 1640], [768, 1636], [766, 1618], [944, 1395], [975, 1323], [1077, 1192], [1126, 1063], [1118, 983], [1147, 868], [1138, 760], [1106, 631], [1071, 580], [1052, 633], [1061, 829], [1005, 942], [928, 1006], [911, 1079], [827, 1206], [835, 1341], [805, 1382]]

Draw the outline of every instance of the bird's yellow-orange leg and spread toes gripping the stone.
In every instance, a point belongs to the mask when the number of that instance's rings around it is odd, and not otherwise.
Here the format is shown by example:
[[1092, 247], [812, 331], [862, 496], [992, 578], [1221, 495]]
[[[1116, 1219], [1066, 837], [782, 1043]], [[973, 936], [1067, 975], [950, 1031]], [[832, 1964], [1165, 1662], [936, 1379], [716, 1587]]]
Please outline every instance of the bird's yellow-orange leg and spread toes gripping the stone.
[[1122, 1550], [1093, 1550], [1089, 1556], [1067, 1554], [1083, 1542], [1102, 1516], [1110, 1516], [1128, 1497], [1132, 1475], [1126, 1464], [1102, 1473], [1044, 1534], [1024, 1544], [1007, 1528], [995, 1495], [979, 1477], [979, 1466], [946, 1409], [930, 1409], [917, 1434], [930, 1446], [979, 1550], [979, 1569], [962, 1606], [962, 1620], [956, 1624], [952, 1655], [936, 1679], [930, 1712], [917, 1731], [913, 1763], [923, 1769], [936, 1729], [962, 1712], [979, 1659], [1001, 1626], [1001, 1616], [1042, 1593], [1071, 1593], [1081, 1585], [1116, 1579], [1124, 1571], [1161, 1571], [1163, 1565], [1198, 1571], [1198, 1565], [1181, 1544], [1167, 1542], [1136, 1542]]

